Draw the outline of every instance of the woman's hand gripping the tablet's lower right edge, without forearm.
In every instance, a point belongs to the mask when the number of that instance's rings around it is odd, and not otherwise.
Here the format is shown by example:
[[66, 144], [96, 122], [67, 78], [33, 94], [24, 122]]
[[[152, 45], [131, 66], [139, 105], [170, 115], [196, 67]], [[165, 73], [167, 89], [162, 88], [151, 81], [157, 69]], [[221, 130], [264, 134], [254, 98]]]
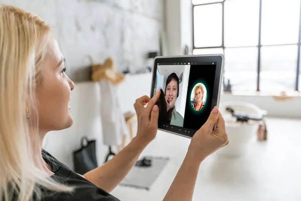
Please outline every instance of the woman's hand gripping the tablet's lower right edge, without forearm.
[[[213, 131], [215, 123], [217, 123], [216, 130]], [[217, 107], [214, 107], [206, 123], [194, 134], [188, 154], [202, 162], [207, 156], [228, 143], [225, 121]]]

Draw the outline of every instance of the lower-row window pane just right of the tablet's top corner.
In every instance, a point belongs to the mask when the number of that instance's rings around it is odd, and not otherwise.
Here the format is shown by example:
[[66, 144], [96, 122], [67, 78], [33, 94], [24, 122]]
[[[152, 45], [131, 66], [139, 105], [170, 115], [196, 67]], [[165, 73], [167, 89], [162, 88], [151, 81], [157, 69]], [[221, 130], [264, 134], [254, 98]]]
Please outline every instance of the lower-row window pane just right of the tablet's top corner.
[[230, 79], [232, 91], [257, 89], [257, 58], [257, 47], [225, 48], [224, 82]]

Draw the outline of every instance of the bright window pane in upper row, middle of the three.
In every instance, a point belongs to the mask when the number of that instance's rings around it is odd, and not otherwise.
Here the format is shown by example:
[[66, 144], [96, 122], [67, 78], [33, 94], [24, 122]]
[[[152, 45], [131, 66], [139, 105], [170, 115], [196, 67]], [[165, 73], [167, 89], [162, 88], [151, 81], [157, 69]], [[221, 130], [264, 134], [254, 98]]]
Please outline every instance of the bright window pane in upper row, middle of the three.
[[259, 0], [225, 2], [225, 46], [257, 46]]

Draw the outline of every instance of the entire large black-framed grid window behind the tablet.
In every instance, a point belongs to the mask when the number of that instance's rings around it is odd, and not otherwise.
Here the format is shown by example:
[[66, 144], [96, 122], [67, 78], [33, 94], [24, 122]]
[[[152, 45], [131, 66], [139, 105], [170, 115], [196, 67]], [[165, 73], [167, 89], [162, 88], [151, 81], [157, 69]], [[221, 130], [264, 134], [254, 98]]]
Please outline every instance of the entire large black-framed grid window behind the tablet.
[[300, 2], [193, 0], [193, 54], [223, 53], [232, 90], [300, 90]]

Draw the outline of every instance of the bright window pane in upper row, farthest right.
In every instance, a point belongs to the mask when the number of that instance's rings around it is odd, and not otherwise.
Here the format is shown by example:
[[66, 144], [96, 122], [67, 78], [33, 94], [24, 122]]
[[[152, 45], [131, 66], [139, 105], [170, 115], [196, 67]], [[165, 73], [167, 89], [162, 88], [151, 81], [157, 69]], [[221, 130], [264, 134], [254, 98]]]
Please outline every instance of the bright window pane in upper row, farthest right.
[[262, 0], [261, 44], [298, 42], [299, 0]]

